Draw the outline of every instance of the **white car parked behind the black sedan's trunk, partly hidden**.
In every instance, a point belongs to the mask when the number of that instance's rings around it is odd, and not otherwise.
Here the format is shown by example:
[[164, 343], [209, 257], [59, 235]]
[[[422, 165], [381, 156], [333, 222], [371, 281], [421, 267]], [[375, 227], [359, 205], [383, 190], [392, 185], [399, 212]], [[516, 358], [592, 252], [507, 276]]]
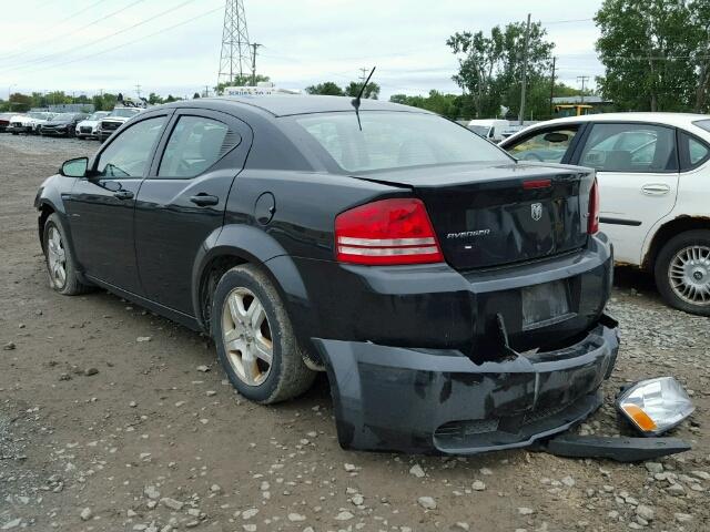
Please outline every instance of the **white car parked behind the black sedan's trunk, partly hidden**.
[[710, 316], [710, 115], [571, 116], [500, 146], [521, 161], [596, 168], [617, 264], [652, 273], [671, 306]]

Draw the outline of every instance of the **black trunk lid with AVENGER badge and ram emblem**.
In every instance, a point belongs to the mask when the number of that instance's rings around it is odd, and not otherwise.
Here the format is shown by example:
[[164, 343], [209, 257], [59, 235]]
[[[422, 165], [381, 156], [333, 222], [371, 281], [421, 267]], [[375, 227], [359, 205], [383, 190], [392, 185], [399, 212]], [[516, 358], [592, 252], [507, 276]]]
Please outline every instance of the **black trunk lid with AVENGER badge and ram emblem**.
[[594, 172], [585, 168], [467, 164], [361, 178], [412, 188], [426, 204], [444, 256], [456, 269], [545, 258], [587, 243]]

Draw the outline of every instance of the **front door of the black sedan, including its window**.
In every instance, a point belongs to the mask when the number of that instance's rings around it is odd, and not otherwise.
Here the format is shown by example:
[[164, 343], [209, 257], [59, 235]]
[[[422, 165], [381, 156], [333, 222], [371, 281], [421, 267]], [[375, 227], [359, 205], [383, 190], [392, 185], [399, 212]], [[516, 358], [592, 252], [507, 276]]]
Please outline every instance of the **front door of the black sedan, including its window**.
[[74, 252], [94, 279], [142, 295], [133, 243], [135, 197], [169, 112], [146, 115], [97, 154], [67, 198]]

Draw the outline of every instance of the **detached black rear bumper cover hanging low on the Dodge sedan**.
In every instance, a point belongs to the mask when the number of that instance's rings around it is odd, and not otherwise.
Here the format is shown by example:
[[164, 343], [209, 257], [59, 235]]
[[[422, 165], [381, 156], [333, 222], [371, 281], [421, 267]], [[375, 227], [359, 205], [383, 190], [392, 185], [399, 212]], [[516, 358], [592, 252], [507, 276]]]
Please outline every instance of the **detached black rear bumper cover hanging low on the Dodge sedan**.
[[449, 454], [525, 447], [579, 423], [601, 405], [619, 349], [608, 318], [565, 349], [479, 365], [455, 350], [314, 344], [342, 447]]

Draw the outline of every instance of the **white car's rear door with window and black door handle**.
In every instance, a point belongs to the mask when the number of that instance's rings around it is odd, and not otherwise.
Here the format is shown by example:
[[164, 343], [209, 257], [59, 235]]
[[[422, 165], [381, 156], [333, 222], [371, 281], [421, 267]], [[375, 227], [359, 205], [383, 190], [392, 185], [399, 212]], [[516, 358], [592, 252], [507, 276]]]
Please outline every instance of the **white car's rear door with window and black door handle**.
[[638, 265], [646, 235], [670, 213], [678, 193], [674, 127], [597, 122], [576, 151], [577, 164], [597, 170], [601, 231], [617, 262]]

